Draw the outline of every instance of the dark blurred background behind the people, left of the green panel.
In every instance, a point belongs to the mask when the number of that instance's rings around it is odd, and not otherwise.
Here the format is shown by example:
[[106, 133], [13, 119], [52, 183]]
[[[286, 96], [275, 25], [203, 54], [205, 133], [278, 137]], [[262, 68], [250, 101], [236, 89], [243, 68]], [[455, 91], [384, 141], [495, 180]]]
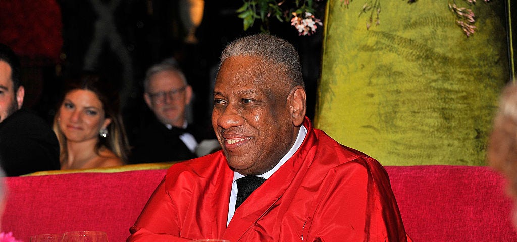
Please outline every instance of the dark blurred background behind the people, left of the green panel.
[[[143, 101], [146, 69], [175, 58], [194, 90], [189, 117], [211, 132], [211, 88], [223, 47], [260, 33], [260, 23], [244, 31], [236, 10], [241, 0], [16, 0], [2, 1], [0, 42], [16, 52], [23, 66], [24, 107], [51, 123], [68, 78], [94, 71], [119, 88], [131, 140], [153, 113]], [[324, 2], [314, 4], [320, 16]], [[300, 52], [314, 117], [316, 80], [321, 68], [322, 30], [299, 36], [290, 22], [270, 25], [271, 34]]]

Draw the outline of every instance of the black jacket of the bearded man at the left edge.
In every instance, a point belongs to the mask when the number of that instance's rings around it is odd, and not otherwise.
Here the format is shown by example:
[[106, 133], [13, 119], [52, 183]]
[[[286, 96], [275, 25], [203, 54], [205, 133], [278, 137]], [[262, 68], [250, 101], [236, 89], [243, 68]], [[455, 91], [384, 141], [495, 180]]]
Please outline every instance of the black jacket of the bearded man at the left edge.
[[0, 166], [7, 176], [59, 170], [59, 143], [50, 125], [25, 109], [2, 121]]

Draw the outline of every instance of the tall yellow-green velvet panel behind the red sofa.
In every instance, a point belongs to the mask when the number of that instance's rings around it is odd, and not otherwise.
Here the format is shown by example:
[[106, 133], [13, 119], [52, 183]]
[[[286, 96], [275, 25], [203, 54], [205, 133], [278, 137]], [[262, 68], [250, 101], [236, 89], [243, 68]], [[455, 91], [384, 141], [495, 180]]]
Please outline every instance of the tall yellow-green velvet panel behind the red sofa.
[[381, 0], [370, 30], [361, 0], [341, 2], [327, 6], [315, 126], [383, 165], [485, 165], [510, 79], [504, 1], [478, 0], [469, 38], [446, 0]]

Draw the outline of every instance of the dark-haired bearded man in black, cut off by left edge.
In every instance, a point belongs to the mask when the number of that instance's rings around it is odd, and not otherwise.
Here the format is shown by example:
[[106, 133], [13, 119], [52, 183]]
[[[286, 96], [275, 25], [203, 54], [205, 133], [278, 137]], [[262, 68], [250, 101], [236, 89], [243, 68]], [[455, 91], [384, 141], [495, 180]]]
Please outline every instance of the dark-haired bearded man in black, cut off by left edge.
[[21, 109], [20, 61], [0, 44], [0, 166], [7, 176], [59, 170], [59, 144], [50, 125]]

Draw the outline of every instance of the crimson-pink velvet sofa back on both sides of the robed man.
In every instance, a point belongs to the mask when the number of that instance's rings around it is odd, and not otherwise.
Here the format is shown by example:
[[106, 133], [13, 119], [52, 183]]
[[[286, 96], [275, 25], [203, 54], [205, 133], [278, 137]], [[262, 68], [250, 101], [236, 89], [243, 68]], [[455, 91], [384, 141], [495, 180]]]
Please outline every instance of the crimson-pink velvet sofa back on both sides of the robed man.
[[[386, 167], [414, 241], [517, 241], [504, 179], [487, 167]], [[2, 230], [31, 235], [101, 230], [125, 241], [165, 170], [7, 178]]]

